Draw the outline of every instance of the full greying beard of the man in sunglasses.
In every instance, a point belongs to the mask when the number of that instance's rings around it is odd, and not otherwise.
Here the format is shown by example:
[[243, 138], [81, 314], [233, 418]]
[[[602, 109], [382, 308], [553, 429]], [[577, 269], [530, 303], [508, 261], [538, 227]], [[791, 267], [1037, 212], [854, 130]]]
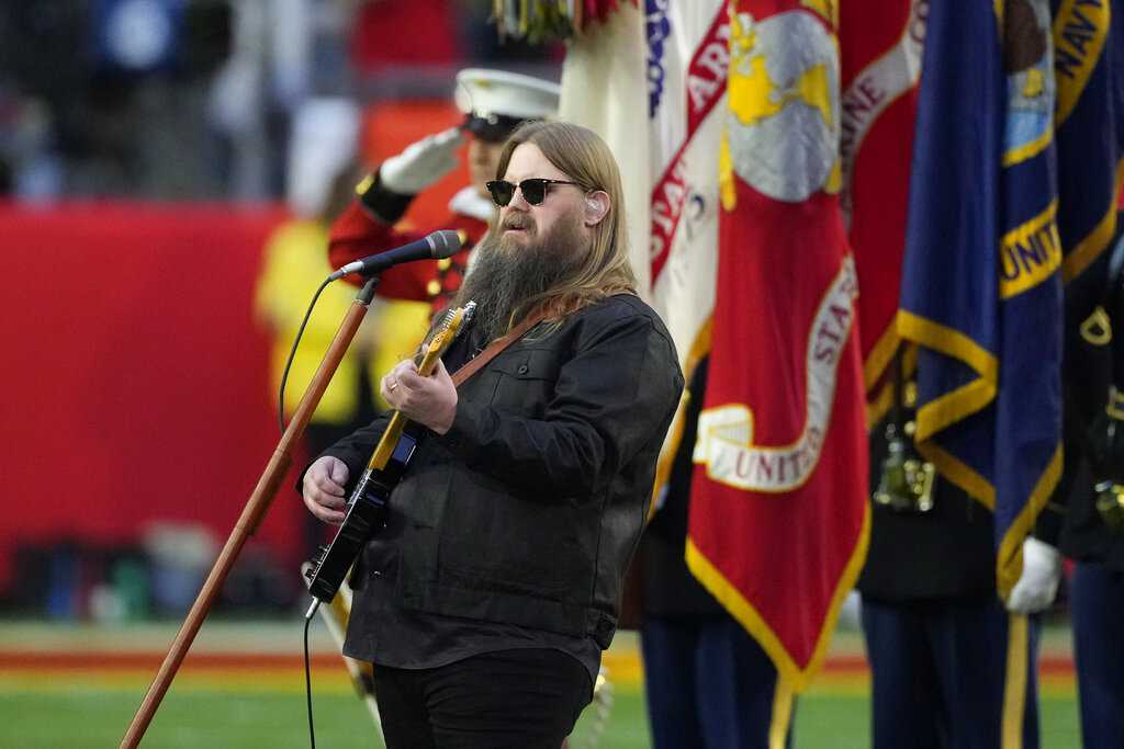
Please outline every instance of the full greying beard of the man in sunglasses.
[[[509, 217], [510, 218], [510, 217]], [[577, 213], [560, 217], [551, 231], [542, 237], [528, 218], [515, 219], [527, 232], [526, 241], [505, 237], [500, 227], [473, 250], [472, 268], [461, 285], [454, 307], [477, 303], [473, 328], [486, 341], [506, 335], [517, 325], [515, 317], [529, 313], [532, 300], [544, 300], [572, 277], [584, 259]], [[529, 226], [528, 226], [529, 225]]]

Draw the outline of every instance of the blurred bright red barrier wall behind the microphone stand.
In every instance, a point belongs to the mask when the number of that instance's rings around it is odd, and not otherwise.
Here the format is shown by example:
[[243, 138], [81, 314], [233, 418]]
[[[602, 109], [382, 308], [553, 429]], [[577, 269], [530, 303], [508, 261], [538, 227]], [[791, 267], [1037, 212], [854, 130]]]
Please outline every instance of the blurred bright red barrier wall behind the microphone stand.
[[[20, 542], [136, 540], [154, 520], [225, 541], [279, 439], [252, 300], [282, 218], [0, 205], [0, 591]], [[289, 486], [252, 542], [296, 565], [303, 509]]]

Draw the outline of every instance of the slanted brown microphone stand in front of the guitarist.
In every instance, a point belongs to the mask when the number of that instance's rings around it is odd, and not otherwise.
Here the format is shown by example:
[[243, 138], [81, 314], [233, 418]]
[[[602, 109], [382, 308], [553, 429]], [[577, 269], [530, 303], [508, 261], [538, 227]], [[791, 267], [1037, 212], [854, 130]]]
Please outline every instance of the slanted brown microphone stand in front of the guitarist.
[[273, 450], [273, 456], [265, 466], [264, 473], [257, 479], [257, 485], [246, 502], [238, 522], [235, 523], [234, 530], [230, 531], [230, 536], [227, 538], [226, 545], [211, 567], [210, 574], [207, 575], [207, 581], [199, 591], [196, 602], [191, 605], [191, 610], [188, 612], [183, 625], [180, 627], [179, 633], [172, 641], [172, 646], [164, 657], [164, 663], [161, 664], [160, 670], [156, 673], [156, 678], [153, 679], [152, 685], [148, 687], [140, 707], [133, 716], [128, 731], [126, 731], [125, 738], [121, 739], [120, 749], [134, 749], [140, 742], [142, 737], [144, 737], [148, 723], [152, 722], [152, 718], [156, 713], [161, 700], [164, 698], [164, 693], [167, 692], [167, 687], [171, 686], [172, 679], [180, 668], [180, 664], [183, 663], [184, 656], [188, 655], [188, 648], [191, 647], [191, 642], [196, 639], [196, 634], [199, 632], [203, 619], [207, 618], [207, 613], [210, 611], [215, 597], [223, 587], [227, 574], [242, 551], [243, 545], [257, 530], [257, 526], [262, 518], [265, 517], [265, 512], [269, 510], [274, 495], [277, 495], [281, 482], [284, 481], [285, 474], [289, 472], [289, 466], [292, 465], [292, 456], [289, 454], [289, 450], [300, 439], [301, 435], [305, 433], [305, 427], [308, 426], [312, 411], [316, 410], [316, 405], [320, 402], [320, 398], [324, 395], [332, 375], [335, 374], [336, 367], [339, 366], [339, 362], [355, 337], [360, 323], [363, 322], [363, 317], [366, 314], [371, 300], [374, 298], [374, 287], [378, 284], [379, 277], [377, 275], [368, 280], [363, 289], [355, 295], [355, 300], [344, 316], [343, 322], [339, 323], [336, 337], [332, 340], [332, 345], [328, 346], [328, 350], [324, 355], [324, 359], [320, 362], [316, 374], [312, 375], [312, 380], [308, 384], [305, 395], [300, 399], [300, 403], [297, 405], [297, 411], [289, 422], [289, 427], [281, 436], [281, 441], [278, 442], [277, 448]]

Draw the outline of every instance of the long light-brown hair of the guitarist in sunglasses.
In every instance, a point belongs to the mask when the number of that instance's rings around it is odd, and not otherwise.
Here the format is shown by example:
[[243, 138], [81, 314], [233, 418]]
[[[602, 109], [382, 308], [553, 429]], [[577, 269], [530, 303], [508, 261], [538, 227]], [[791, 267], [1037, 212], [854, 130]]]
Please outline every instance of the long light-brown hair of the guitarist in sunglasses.
[[580, 125], [542, 120], [525, 122], [504, 145], [496, 167], [497, 180], [504, 179], [511, 153], [525, 143], [537, 146], [551, 164], [587, 192], [604, 190], [608, 193], [609, 211], [593, 227], [592, 246], [584, 262], [553, 289], [519, 304], [511, 314], [508, 329], [543, 305], [547, 309], [549, 319], [560, 320], [611, 294], [636, 293], [636, 276], [628, 259], [620, 170], [609, 147], [600, 136]]

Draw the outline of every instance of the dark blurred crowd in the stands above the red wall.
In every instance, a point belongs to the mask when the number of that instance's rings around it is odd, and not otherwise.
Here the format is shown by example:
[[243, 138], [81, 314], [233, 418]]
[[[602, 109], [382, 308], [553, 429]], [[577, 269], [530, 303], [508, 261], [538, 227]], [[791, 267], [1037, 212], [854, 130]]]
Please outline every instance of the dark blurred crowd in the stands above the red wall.
[[470, 64], [558, 79], [474, 0], [46, 0], [0, 8], [0, 193], [275, 200], [301, 111], [446, 100]]

